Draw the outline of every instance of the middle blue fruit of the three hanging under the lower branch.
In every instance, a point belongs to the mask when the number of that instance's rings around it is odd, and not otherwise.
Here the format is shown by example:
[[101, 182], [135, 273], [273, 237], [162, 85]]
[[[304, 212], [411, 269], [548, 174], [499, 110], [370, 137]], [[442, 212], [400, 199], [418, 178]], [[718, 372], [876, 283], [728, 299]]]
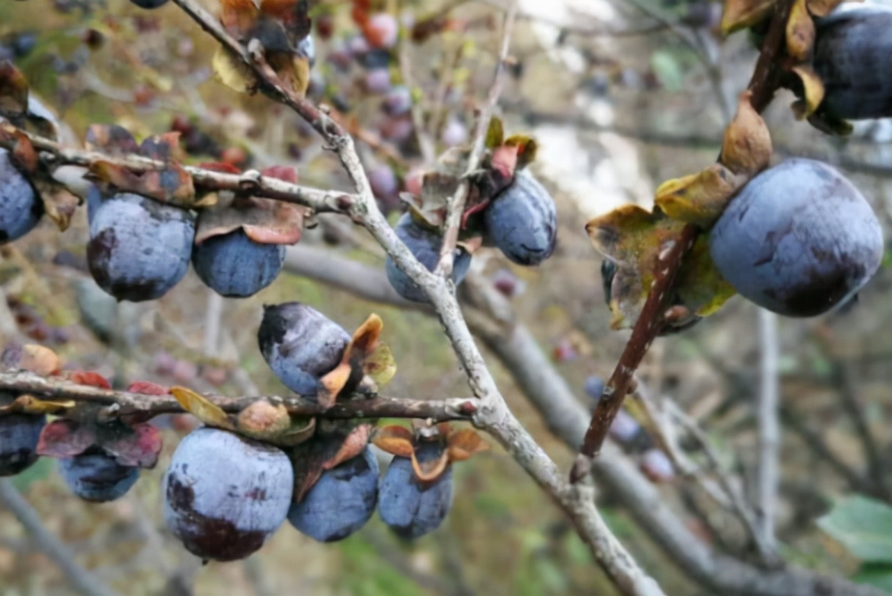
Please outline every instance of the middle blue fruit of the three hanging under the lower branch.
[[360, 455], [327, 470], [310, 493], [288, 511], [301, 534], [335, 542], [365, 526], [378, 502], [378, 461], [366, 447]]

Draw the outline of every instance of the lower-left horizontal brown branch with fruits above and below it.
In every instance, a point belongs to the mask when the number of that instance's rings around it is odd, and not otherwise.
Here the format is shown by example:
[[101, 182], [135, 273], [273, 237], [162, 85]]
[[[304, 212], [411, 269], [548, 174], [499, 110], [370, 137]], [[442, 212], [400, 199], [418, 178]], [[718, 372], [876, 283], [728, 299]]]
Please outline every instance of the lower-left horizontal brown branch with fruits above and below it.
[[[29, 372], [0, 373], [0, 392], [21, 395], [28, 393], [38, 399], [88, 401], [111, 406], [116, 416], [143, 414], [149, 417], [160, 414], [182, 414], [185, 410], [172, 395], [145, 395], [92, 385], [72, 383], [60, 377], [38, 377]], [[254, 401], [264, 397], [227, 397], [204, 394], [208, 400], [227, 412], [239, 412]], [[335, 403], [324, 409], [315, 401], [298, 395], [267, 397], [273, 403], [282, 403], [297, 416], [319, 418], [430, 418], [437, 422], [470, 420], [477, 410], [476, 400], [452, 398], [446, 400], [401, 400], [386, 397], [357, 398]]]

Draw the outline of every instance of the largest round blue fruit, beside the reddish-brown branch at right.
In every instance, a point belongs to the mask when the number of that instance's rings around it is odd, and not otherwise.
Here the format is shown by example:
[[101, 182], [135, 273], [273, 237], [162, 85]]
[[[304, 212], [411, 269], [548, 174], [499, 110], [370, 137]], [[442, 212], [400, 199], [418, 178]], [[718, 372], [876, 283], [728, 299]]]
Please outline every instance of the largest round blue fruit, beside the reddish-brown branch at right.
[[710, 235], [710, 253], [741, 295], [788, 317], [814, 317], [880, 267], [880, 222], [837, 170], [790, 159], [753, 178]]

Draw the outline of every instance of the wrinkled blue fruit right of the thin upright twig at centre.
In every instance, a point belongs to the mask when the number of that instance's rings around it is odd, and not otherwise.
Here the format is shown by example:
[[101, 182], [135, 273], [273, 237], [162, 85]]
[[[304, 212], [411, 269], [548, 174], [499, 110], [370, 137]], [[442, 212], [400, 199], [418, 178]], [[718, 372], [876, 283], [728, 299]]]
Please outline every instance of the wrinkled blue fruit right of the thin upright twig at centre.
[[558, 239], [554, 199], [533, 174], [516, 173], [514, 182], [483, 211], [493, 244], [518, 265], [538, 265], [551, 256]]

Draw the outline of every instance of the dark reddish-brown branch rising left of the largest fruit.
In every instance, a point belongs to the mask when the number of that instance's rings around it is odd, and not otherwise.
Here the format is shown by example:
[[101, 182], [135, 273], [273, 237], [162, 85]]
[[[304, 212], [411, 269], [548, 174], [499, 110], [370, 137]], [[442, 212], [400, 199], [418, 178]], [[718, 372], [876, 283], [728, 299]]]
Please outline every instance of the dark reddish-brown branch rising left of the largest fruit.
[[[753, 92], [751, 102], [757, 112], [762, 112], [771, 103], [774, 92], [778, 88], [780, 79], [779, 57], [784, 51], [786, 43], [786, 26], [789, 20], [789, 12], [793, 2], [786, 0], [778, 5], [772, 16], [768, 34], [762, 46], [762, 52], [753, 70], [753, 76], [749, 81], [749, 90]], [[641, 360], [648, 352], [650, 344], [664, 327], [664, 313], [670, 306], [675, 275], [681, 269], [684, 255], [697, 240], [699, 228], [693, 225], [685, 226], [681, 235], [671, 245], [666, 245], [657, 256], [657, 262], [653, 270], [656, 271], [654, 283], [650, 287], [648, 299], [635, 327], [632, 328], [632, 336], [625, 344], [623, 355], [616, 364], [613, 374], [610, 376], [604, 393], [591, 416], [589, 428], [582, 440], [579, 455], [576, 456], [573, 469], [570, 472], [571, 482], [578, 482], [588, 475], [592, 460], [598, 456], [607, 431], [613, 424], [616, 413], [623, 406], [623, 401], [630, 390], [632, 375], [638, 369]]]

